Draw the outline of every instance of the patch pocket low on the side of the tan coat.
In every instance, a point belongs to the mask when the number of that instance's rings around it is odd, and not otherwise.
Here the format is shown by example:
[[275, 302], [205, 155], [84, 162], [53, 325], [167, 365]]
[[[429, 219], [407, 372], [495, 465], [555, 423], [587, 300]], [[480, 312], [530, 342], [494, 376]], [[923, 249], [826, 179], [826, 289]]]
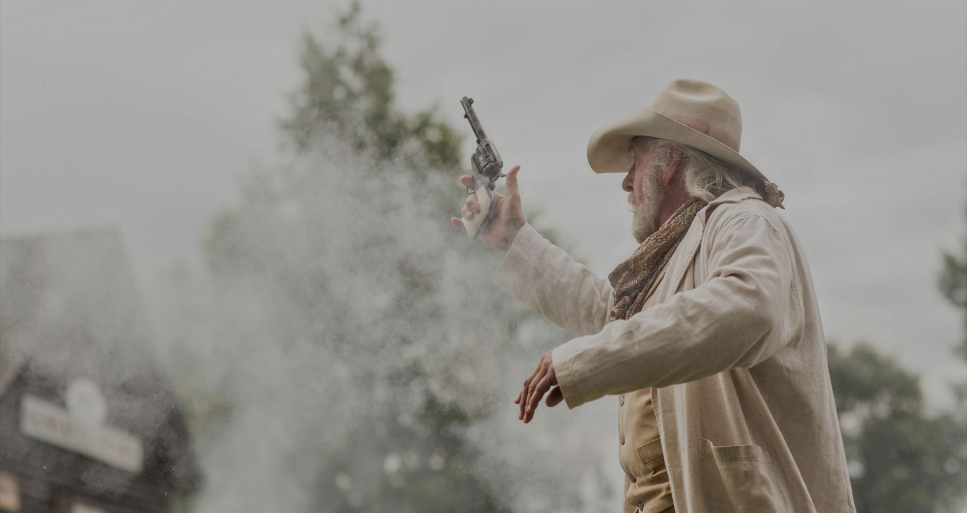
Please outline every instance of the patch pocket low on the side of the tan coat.
[[705, 511], [788, 511], [762, 447], [716, 446], [698, 439], [698, 454]]

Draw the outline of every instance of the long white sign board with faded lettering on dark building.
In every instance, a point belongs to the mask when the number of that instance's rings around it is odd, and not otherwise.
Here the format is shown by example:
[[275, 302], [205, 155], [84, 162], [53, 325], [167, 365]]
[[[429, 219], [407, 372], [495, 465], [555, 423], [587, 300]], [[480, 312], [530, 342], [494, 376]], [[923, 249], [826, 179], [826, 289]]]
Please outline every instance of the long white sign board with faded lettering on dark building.
[[67, 410], [25, 394], [20, 398], [20, 431], [130, 472], [144, 469], [144, 448], [131, 433], [78, 422]]

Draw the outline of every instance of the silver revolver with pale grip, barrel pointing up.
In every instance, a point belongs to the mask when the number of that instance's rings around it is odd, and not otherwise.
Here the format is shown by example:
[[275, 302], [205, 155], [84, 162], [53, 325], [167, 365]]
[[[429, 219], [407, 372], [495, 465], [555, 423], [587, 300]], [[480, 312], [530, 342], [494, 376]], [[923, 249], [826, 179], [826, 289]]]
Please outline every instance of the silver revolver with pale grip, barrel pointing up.
[[481, 214], [474, 215], [472, 220], [461, 220], [463, 221], [463, 227], [467, 230], [467, 235], [476, 241], [480, 237], [481, 232], [484, 231], [484, 226], [490, 219], [490, 214], [493, 213], [493, 187], [496, 185], [498, 178], [507, 175], [501, 173], [501, 169], [504, 167], [504, 161], [500, 159], [500, 154], [497, 153], [497, 147], [486, 137], [484, 127], [481, 126], [480, 120], [477, 119], [477, 113], [474, 112], [474, 107], [471, 106], [473, 102], [474, 100], [467, 97], [463, 97], [460, 100], [460, 103], [463, 105], [463, 110], [466, 112], [463, 117], [470, 121], [470, 128], [473, 128], [474, 135], [477, 137], [477, 151], [470, 157], [474, 185], [467, 187], [467, 192], [477, 195], [477, 201], [481, 206]]

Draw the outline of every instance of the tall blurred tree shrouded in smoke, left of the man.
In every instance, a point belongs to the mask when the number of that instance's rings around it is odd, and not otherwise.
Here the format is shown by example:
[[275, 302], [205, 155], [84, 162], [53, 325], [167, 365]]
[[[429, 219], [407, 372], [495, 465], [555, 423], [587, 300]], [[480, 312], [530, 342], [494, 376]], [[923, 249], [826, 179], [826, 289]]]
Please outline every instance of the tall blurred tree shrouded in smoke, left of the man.
[[[500, 255], [451, 231], [466, 197], [460, 137], [432, 109], [396, 110], [358, 2], [325, 42], [305, 37], [300, 64], [305, 82], [280, 123], [292, 162], [249, 173], [241, 204], [203, 242], [216, 296], [242, 317], [205, 336], [309, 351], [319, 368], [293, 375], [339, 388], [319, 393], [320, 423], [337, 428], [303, 448], [319, 462], [309, 510], [510, 511], [510, 492], [497, 492], [510, 473], [484, 476], [468, 432], [492, 414], [521, 351], [517, 327], [535, 314], [474, 271]], [[561, 333], [544, 327], [527, 343], [549, 349]], [[217, 409], [228, 421], [238, 410]], [[572, 487], [549, 495], [547, 510], [580, 506]]]

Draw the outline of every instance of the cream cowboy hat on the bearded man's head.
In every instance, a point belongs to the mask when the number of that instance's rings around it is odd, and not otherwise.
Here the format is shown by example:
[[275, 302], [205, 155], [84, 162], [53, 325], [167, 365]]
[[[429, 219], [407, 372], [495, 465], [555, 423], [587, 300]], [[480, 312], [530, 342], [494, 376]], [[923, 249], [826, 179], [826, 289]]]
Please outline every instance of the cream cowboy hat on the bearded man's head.
[[628, 147], [638, 135], [688, 145], [752, 176], [766, 178], [739, 155], [739, 103], [708, 82], [679, 78], [661, 90], [651, 108], [632, 110], [601, 125], [588, 141], [591, 169], [596, 173], [627, 173], [633, 162]]

